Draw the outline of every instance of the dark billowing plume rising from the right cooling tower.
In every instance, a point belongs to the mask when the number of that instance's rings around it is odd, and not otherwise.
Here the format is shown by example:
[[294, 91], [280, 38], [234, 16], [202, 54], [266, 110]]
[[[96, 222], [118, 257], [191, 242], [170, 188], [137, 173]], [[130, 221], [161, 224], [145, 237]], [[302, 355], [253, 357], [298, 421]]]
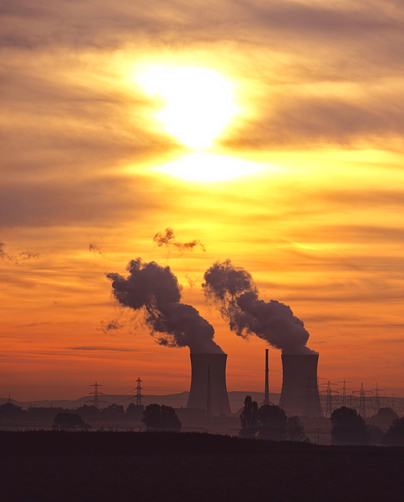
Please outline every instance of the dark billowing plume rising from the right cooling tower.
[[314, 354], [307, 347], [309, 332], [290, 307], [276, 300], [258, 299], [251, 275], [230, 260], [216, 262], [204, 275], [202, 285], [207, 298], [213, 300], [230, 329], [247, 337], [255, 334], [284, 354]]

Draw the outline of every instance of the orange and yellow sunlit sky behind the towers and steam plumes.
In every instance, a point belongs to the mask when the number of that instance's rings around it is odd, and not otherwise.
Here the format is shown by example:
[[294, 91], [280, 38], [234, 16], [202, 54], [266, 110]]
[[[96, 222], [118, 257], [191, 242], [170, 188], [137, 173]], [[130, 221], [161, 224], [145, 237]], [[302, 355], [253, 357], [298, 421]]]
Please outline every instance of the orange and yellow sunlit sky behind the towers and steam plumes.
[[214, 326], [229, 391], [263, 391], [268, 344], [206, 299], [225, 260], [304, 322], [321, 383], [404, 396], [401, 1], [13, 0], [1, 15], [0, 397], [129, 394], [138, 376], [145, 394], [189, 390], [189, 349], [112, 294], [106, 273], [137, 258], [170, 267]]

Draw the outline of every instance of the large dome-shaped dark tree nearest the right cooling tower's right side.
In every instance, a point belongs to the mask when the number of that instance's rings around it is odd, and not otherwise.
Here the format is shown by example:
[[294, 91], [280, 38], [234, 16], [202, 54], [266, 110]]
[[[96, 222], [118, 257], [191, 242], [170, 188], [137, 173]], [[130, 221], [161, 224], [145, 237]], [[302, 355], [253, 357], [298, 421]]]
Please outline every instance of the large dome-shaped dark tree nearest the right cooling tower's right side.
[[356, 410], [342, 406], [331, 414], [331, 439], [334, 444], [368, 444], [366, 424]]

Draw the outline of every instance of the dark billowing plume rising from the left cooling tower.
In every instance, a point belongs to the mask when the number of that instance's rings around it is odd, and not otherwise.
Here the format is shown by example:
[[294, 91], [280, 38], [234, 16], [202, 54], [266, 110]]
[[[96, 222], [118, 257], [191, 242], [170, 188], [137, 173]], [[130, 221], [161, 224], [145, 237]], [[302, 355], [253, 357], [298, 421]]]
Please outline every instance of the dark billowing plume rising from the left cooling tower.
[[107, 274], [119, 303], [144, 312], [151, 334], [160, 345], [189, 347], [192, 353], [222, 354], [213, 326], [191, 305], [179, 303], [181, 286], [169, 267], [140, 258], [131, 260], [127, 278]]

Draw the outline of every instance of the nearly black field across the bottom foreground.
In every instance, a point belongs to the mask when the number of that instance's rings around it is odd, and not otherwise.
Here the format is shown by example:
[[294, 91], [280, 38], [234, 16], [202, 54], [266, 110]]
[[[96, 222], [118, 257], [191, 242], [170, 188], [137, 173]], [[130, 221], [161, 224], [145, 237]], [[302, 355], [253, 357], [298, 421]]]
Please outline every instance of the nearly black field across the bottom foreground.
[[404, 448], [201, 433], [0, 432], [0, 499], [403, 500]]

